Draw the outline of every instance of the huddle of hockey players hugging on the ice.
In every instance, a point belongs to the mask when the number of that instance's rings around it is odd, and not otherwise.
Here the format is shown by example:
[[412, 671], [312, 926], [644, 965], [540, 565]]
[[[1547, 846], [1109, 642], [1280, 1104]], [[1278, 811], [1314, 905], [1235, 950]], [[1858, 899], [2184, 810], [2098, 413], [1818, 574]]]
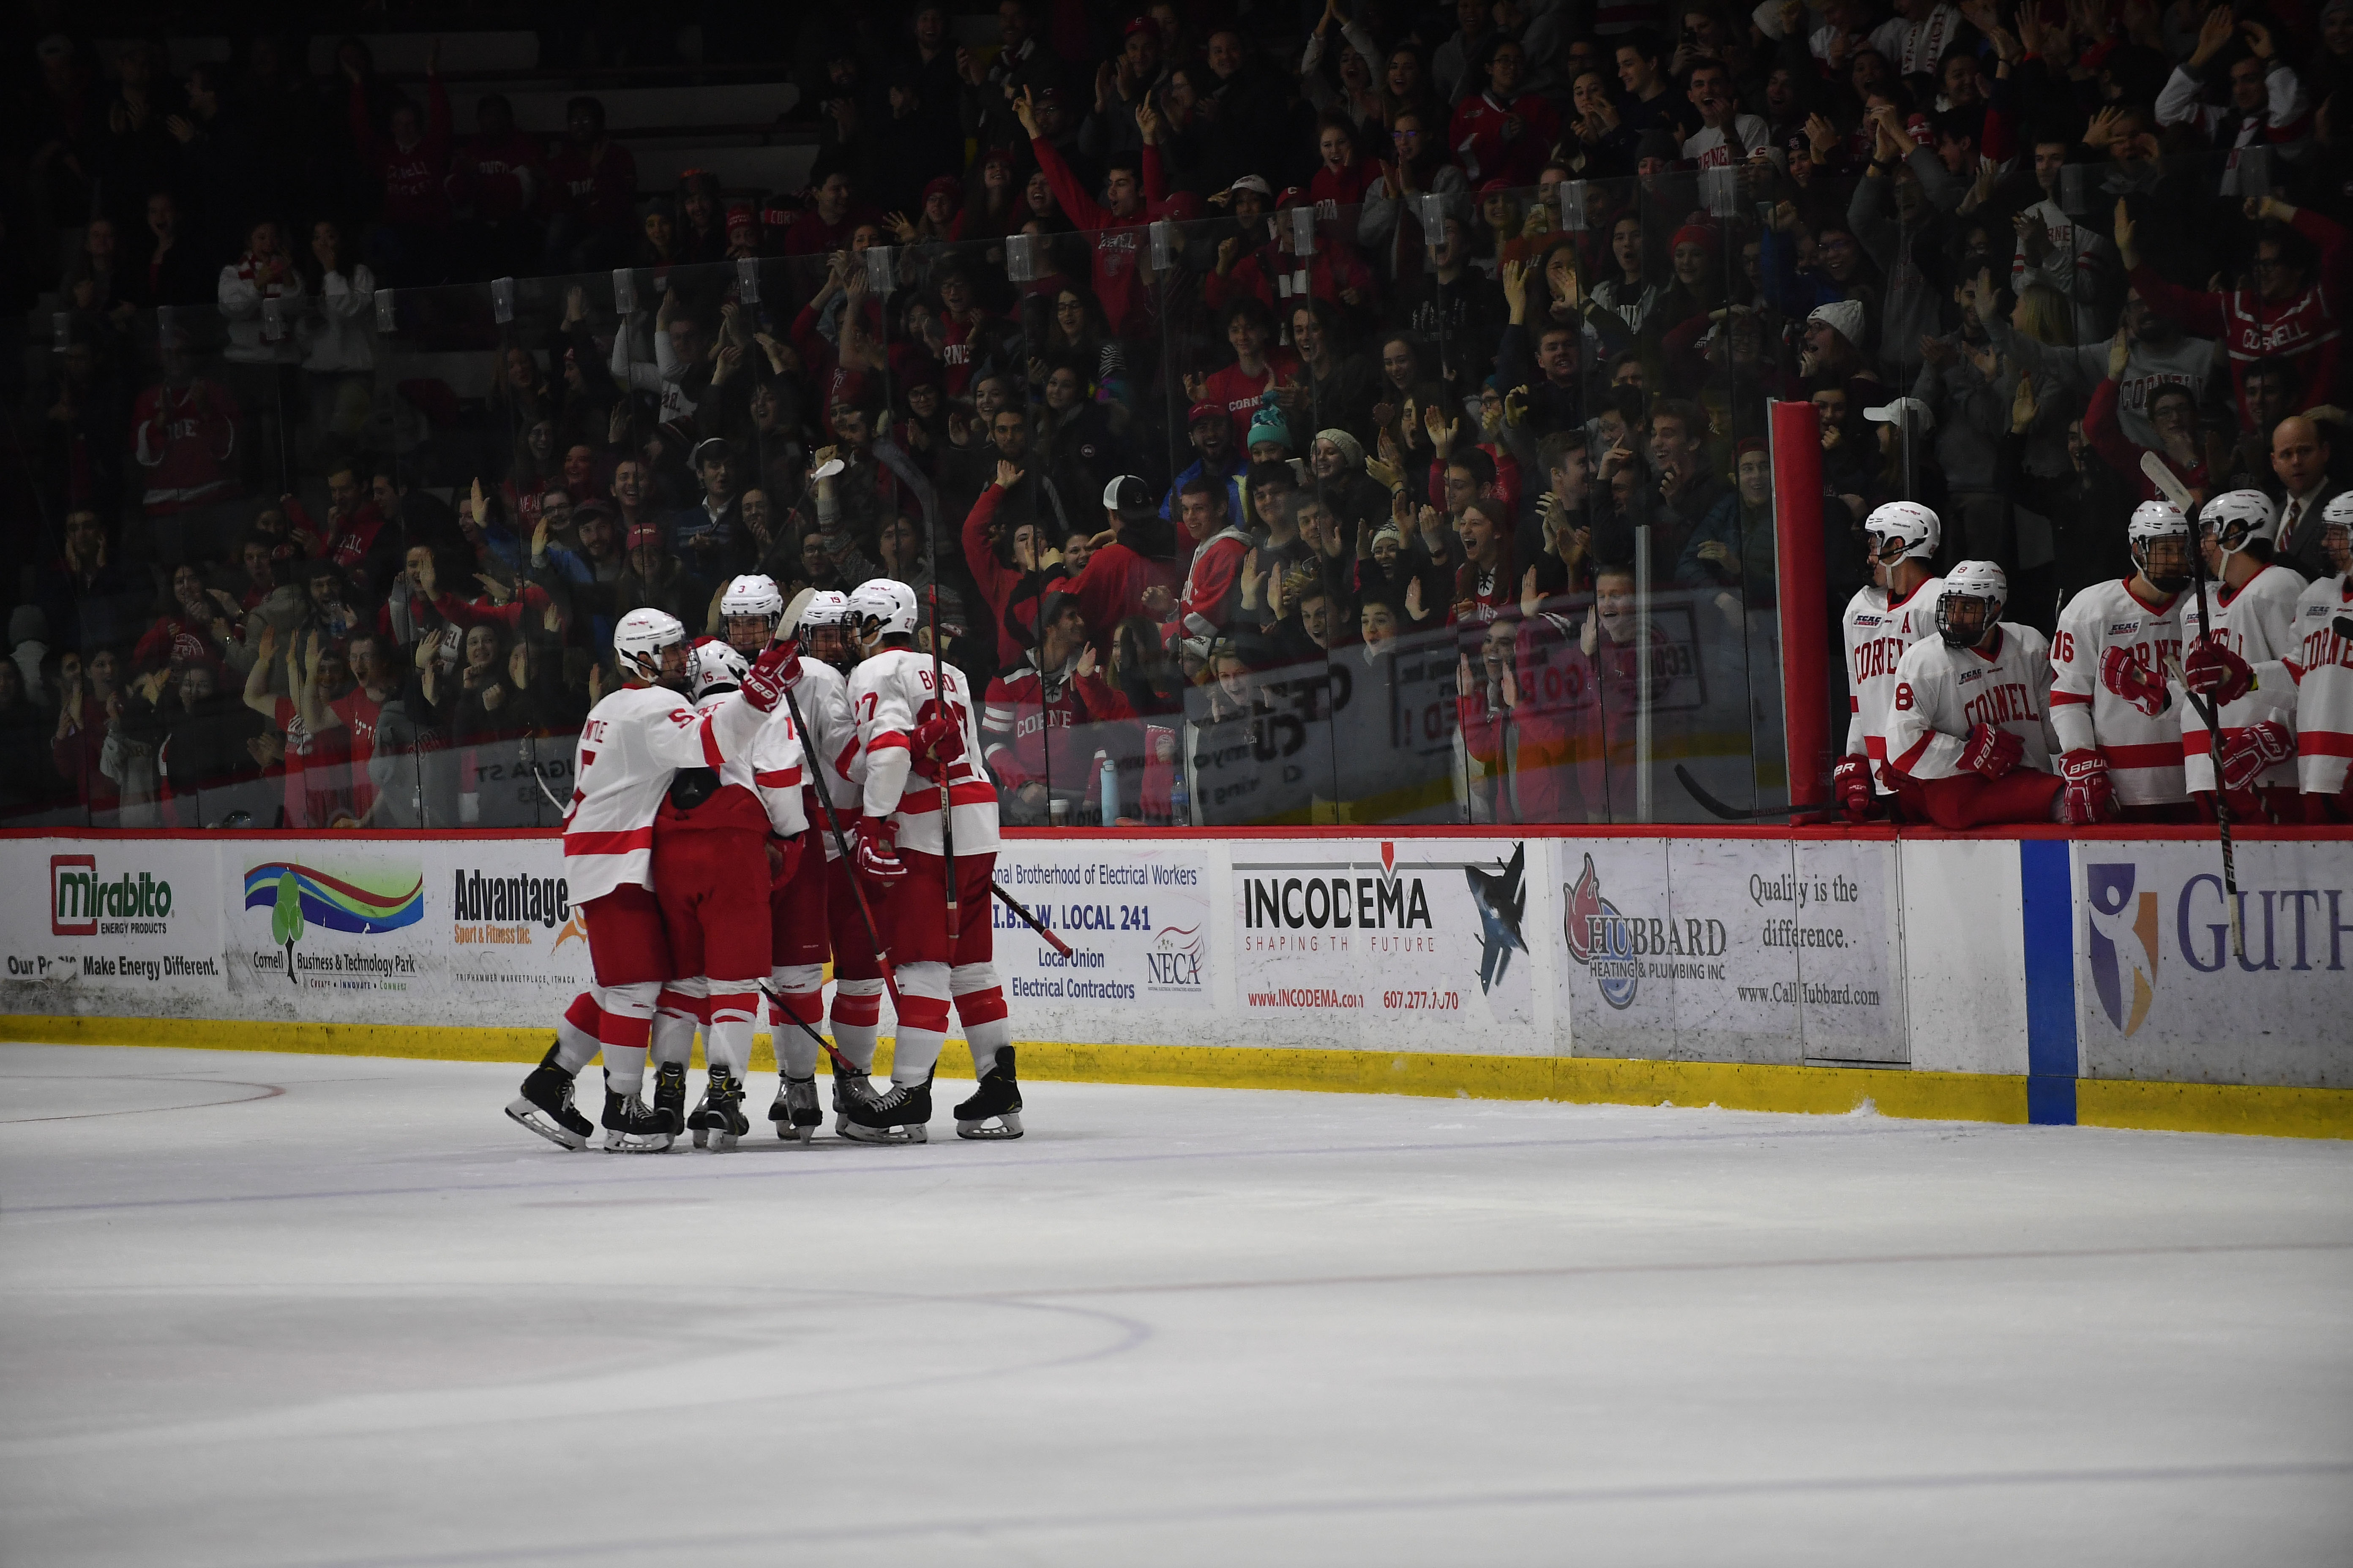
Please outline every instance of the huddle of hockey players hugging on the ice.
[[[1021, 1135], [988, 907], [998, 797], [965, 675], [918, 651], [906, 583], [805, 592], [793, 611], [786, 625], [776, 583], [739, 576], [720, 599], [725, 639], [689, 644], [659, 609], [614, 628], [624, 686], [581, 729], [565, 813], [595, 983], [506, 1107], [567, 1150], [595, 1131], [572, 1093], [598, 1053], [607, 1150], [659, 1152], [680, 1133], [736, 1147], [762, 1013], [779, 1138], [807, 1143], [824, 1124], [824, 1053], [838, 1135], [922, 1143], [951, 1001], [979, 1077], [955, 1107], [958, 1135]], [[878, 1091], [885, 992], [899, 1030]], [[687, 1110], [696, 1030], [708, 1074]]]

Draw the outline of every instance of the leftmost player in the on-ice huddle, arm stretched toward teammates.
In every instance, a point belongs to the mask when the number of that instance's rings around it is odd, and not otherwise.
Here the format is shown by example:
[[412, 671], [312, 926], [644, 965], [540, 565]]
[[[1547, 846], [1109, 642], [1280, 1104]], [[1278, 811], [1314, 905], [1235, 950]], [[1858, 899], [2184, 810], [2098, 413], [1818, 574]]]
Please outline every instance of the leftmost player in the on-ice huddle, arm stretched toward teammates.
[[555, 1044], [522, 1079], [506, 1114], [567, 1147], [593, 1128], [572, 1107], [574, 1077], [605, 1053], [605, 1147], [671, 1147], [678, 1121], [645, 1105], [645, 1051], [671, 980], [671, 943], [654, 898], [654, 816], [678, 769], [715, 769], [744, 752], [784, 698], [791, 649], [767, 649], [744, 689], [708, 712], [692, 708], [687, 630], [659, 609], [633, 609], [612, 632], [621, 689], [581, 726], [579, 773], [565, 811], [565, 879], [588, 929], [593, 985], [572, 999]]

